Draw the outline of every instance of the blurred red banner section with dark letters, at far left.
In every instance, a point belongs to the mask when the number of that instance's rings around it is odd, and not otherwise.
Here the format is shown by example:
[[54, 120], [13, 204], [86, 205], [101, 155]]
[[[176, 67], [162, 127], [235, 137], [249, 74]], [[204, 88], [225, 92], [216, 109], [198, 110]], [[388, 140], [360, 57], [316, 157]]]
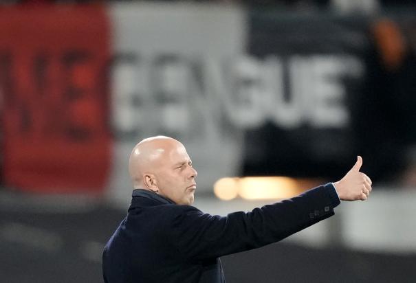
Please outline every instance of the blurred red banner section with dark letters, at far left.
[[109, 174], [109, 20], [100, 6], [0, 9], [3, 178], [98, 192]]

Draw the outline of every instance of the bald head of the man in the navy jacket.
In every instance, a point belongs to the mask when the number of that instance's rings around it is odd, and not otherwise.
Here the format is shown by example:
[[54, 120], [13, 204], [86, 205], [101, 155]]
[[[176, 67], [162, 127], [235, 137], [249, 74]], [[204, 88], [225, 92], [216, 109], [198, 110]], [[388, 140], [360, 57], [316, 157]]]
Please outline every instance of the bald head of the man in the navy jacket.
[[[197, 172], [184, 145], [176, 139], [157, 136], [140, 141], [131, 152], [129, 174], [135, 189], [151, 190], [176, 203], [189, 203], [183, 194], [191, 191], [193, 202]], [[188, 188], [192, 186], [193, 190]]]

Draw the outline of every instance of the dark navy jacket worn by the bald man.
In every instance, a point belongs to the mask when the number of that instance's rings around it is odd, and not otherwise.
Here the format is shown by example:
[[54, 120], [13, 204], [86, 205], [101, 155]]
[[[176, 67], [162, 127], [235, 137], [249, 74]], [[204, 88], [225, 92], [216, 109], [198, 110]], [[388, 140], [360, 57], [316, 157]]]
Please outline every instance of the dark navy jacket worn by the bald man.
[[252, 212], [221, 217], [134, 190], [129, 213], [104, 249], [104, 281], [225, 282], [220, 256], [282, 240], [332, 216], [339, 203], [329, 183]]

